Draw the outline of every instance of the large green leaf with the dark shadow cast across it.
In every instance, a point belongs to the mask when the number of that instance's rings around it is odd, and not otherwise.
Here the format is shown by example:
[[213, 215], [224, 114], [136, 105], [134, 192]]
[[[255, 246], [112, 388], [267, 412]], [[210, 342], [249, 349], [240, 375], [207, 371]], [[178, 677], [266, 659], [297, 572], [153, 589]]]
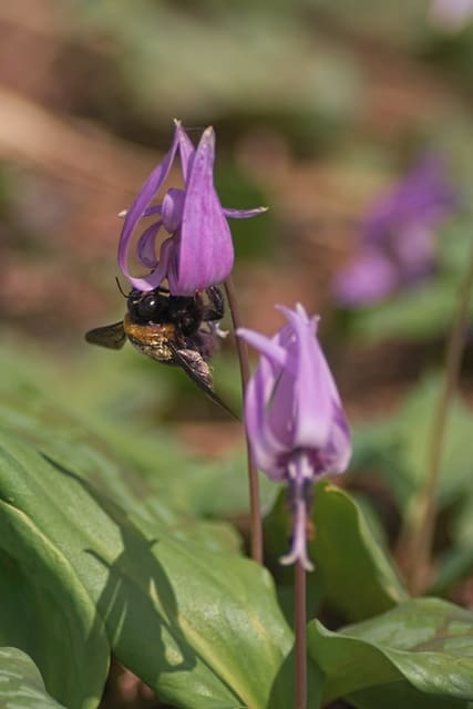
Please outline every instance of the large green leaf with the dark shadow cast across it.
[[288, 706], [287, 687], [279, 682], [275, 695], [273, 685], [292, 636], [266, 571], [157, 523], [147, 536], [66, 467], [13, 436], [0, 442], [2, 543], [22, 564], [30, 559], [44, 585], [58, 580], [58, 594], [66, 585], [94, 604], [119, 659], [162, 700], [266, 709], [273, 693], [271, 708]]

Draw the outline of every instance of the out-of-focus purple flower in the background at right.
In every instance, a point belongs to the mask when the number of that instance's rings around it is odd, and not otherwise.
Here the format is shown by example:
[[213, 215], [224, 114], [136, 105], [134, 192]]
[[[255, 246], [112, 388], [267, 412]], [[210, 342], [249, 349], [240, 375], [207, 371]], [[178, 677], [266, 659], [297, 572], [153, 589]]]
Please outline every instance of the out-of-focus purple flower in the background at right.
[[364, 218], [360, 255], [335, 278], [337, 300], [352, 308], [371, 305], [431, 275], [434, 229], [459, 207], [443, 163], [434, 157], [420, 163]]

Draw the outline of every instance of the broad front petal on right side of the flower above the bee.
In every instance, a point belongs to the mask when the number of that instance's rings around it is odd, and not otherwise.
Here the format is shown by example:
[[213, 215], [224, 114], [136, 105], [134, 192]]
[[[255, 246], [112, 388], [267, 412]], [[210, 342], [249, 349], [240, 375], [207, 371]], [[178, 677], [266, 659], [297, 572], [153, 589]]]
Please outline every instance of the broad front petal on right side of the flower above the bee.
[[204, 131], [186, 184], [176, 280], [173, 295], [192, 296], [223, 282], [230, 274], [234, 248], [228, 224], [214, 189], [215, 134]]

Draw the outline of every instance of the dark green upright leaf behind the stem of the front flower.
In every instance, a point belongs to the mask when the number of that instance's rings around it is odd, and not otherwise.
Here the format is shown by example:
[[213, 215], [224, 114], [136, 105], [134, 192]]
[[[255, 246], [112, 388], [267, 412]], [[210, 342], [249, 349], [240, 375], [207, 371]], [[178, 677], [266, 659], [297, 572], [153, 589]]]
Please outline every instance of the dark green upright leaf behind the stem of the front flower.
[[[313, 493], [313, 541], [308, 544], [316, 564], [315, 593], [338, 613], [359, 620], [382, 613], [408, 598], [388, 552], [377, 540], [357, 503], [331, 483], [320, 482]], [[268, 548], [275, 557], [287, 549], [290, 520], [286, 494], [266, 521]], [[349, 593], [347, 593], [349, 589]]]

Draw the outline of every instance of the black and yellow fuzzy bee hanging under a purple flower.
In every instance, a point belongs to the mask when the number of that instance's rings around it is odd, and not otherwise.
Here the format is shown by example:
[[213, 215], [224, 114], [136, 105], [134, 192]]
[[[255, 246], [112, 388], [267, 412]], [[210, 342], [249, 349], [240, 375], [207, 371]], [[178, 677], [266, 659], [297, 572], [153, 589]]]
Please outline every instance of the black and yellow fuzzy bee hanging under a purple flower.
[[158, 287], [147, 292], [133, 289], [126, 296], [123, 320], [85, 333], [92, 345], [120, 350], [126, 340], [162, 364], [181, 367], [213, 401], [235, 414], [215, 393], [208, 360], [217, 349], [218, 321], [224, 317], [224, 296], [217, 286], [195, 296], [172, 296]]

